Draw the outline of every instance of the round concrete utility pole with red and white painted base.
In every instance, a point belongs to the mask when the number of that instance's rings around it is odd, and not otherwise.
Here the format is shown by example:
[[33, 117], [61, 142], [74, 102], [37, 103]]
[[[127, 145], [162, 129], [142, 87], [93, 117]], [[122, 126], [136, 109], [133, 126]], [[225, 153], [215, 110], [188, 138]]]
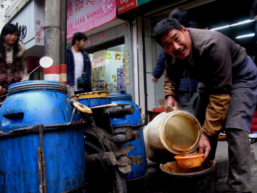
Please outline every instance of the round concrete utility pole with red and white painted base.
[[44, 80], [60, 81], [60, 0], [45, 0], [45, 56], [54, 60]]

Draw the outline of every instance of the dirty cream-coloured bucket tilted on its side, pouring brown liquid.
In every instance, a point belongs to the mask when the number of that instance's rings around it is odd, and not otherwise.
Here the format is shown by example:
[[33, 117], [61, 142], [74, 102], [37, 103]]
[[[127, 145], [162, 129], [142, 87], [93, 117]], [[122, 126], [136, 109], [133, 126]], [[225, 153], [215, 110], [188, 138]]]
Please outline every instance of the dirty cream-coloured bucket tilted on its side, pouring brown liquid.
[[144, 129], [146, 157], [156, 163], [166, 163], [198, 148], [201, 126], [189, 112], [176, 110], [158, 114]]

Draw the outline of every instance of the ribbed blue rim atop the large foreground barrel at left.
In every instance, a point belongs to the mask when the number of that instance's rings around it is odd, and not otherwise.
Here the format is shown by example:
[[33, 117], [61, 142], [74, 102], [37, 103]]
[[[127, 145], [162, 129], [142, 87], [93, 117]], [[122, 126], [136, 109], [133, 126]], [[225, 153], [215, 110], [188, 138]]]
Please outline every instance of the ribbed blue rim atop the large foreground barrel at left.
[[68, 93], [67, 85], [58, 81], [22, 81], [11, 84], [8, 88], [8, 94], [16, 92], [26, 92], [32, 90], [58, 91]]

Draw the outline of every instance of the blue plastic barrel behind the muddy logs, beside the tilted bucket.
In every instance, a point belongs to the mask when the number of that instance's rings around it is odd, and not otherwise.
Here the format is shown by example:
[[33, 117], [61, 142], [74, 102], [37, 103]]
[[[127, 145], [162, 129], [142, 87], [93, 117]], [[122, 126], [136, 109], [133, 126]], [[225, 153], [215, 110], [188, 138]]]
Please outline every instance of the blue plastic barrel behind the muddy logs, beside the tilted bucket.
[[127, 146], [132, 144], [134, 146], [134, 148], [128, 152], [129, 156], [142, 156], [143, 163], [141, 165], [131, 165], [132, 171], [124, 174], [126, 180], [138, 179], [146, 175], [147, 170], [143, 126], [140, 126], [140, 123], [142, 123], [140, 110], [132, 101], [132, 96], [130, 94], [112, 94], [109, 97], [111, 97], [112, 103], [128, 103], [133, 105], [135, 108], [135, 112], [133, 114], [110, 117], [110, 120], [113, 127], [127, 125], [131, 126], [133, 131], [138, 131], [140, 133], [140, 137], [138, 139], [130, 141], [124, 145]]

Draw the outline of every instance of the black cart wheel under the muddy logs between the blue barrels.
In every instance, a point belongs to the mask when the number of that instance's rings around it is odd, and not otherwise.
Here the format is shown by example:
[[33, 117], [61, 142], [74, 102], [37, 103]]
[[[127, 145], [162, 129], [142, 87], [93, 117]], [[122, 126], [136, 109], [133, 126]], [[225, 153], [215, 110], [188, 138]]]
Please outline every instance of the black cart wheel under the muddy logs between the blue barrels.
[[[85, 140], [85, 148], [87, 155], [102, 152], [102, 149], [98, 145], [87, 140]], [[102, 188], [97, 192], [126, 193], [126, 180], [124, 175], [119, 171], [118, 167], [103, 167], [104, 166], [100, 163], [100, 161], [94, 164], [87, 163], [88, 178], [95, 179], [93, 182], [94, 185], [92, 187], [93, 190], [96, 191], [96, 188]], [[113, 184], [112, 187], [111, 184]]]

